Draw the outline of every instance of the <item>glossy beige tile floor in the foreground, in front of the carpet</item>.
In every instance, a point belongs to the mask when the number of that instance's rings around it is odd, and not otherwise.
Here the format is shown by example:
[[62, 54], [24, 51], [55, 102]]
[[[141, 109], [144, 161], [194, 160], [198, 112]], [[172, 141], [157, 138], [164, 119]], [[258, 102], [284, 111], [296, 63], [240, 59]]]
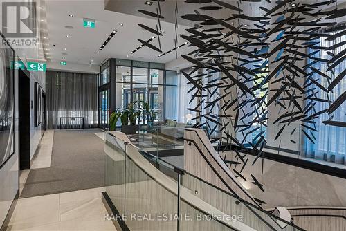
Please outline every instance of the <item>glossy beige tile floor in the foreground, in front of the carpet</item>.
[[20, 198], [8, 230], [116, 230], [102, 201], [104, 187]]

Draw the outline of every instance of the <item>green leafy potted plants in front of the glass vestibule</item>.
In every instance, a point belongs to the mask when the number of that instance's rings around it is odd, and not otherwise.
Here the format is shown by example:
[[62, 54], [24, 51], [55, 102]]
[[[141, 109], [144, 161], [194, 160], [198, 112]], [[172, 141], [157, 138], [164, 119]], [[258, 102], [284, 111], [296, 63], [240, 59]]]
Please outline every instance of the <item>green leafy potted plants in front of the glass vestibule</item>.
[[109, 118], [109, 127], [111, 131], [114, 131], [116, 129], [116, 123], [118, 122], [118, 119], [120, 118], [121, 122], [121, 131], [125, 134], [134, 134], [136, 133], [137, 126], [136, 121], [138, 120], [138, 117], [140, 116], [140, 111], [134, 111], [134, 103], [129, 103], [127, 105], [127, 109], [122, 109], [118, 111], [114, 111], [111, 113], [111, 116]]

